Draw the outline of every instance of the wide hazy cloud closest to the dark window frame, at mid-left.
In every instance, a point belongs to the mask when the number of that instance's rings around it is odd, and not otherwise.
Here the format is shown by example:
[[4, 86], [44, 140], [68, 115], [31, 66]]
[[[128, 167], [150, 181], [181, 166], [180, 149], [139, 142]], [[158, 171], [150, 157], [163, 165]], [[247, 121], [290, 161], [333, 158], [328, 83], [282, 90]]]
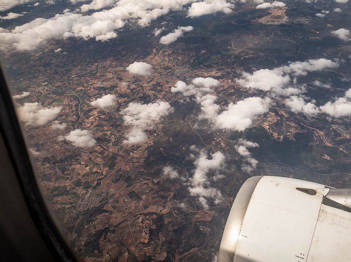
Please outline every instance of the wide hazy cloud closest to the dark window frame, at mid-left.
[[38, 126], [54, 120], [61, 109], [61, 106], [45, 108], [38, 102], [24, 103], [18, 107], [18, 114], [25, 125]]

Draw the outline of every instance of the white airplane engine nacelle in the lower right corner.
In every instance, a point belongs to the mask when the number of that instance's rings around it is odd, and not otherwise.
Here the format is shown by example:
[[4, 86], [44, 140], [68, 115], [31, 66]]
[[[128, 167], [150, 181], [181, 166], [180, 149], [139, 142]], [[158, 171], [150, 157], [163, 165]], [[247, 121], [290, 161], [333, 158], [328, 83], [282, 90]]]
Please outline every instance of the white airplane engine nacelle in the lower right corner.
[[254, 176], [240, 188], [217, 262], [351, 261], [347, 188]]

